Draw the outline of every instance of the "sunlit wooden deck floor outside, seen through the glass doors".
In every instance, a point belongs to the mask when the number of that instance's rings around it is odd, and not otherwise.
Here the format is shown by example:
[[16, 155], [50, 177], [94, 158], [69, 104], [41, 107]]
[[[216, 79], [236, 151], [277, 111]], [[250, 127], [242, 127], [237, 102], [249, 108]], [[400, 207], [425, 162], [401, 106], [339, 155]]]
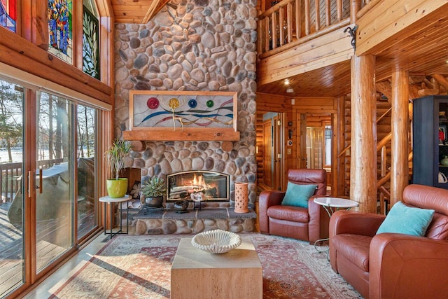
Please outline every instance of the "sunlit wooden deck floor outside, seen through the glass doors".
[[[22, 230], [9, 223], [8, 209], [10, 202], [0, 204], [0, 298], [6, 291], [22, 284], [23, 242]], [[86, 213], [80, 218], [78, 234], [83, 236], [94, 228], [94, 214]], [[37, 269], [42, 269], [51, 263], [67, 248], [49, 242], [53, 232], [65, 225], [67, 219], [39, 221], [37, 239]]]

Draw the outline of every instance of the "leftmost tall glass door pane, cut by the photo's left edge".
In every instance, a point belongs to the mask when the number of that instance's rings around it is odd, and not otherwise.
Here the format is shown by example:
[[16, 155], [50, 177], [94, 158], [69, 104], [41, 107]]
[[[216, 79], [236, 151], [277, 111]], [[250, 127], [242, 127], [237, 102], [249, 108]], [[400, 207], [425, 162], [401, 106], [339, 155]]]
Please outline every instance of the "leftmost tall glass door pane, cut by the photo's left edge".
[[23, 90], [0, 80], [0, 298], [22, 285]]

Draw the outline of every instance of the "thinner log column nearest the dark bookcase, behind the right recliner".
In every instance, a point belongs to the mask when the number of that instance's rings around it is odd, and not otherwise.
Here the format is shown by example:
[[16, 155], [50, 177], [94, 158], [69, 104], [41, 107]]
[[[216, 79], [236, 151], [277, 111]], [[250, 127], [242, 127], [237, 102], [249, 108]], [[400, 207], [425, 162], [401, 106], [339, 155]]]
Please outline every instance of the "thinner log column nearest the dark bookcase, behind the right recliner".
[[401, 199], [409, 182], [409, 74], [396, 71], [392, 74], [392, 167], [391, 207]]

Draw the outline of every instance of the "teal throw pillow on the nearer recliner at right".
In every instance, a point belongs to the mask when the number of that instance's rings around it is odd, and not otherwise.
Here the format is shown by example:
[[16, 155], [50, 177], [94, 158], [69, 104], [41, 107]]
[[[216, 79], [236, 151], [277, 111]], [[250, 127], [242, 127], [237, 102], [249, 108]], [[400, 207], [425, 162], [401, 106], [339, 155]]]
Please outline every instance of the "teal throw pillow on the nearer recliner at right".
[[377, 235], [381, 232], [398, 232], [424, 236], [429, 223], [433, 220], [433, 215], [433, 209], [407, 207], [402, 202], [397, 202], [379, 226]]

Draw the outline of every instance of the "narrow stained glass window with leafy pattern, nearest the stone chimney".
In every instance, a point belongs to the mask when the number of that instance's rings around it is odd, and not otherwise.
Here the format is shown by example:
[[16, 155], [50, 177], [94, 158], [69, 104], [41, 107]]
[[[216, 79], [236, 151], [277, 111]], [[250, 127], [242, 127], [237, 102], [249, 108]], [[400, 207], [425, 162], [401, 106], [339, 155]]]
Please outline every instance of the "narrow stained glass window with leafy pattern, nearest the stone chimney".
[[85, 74], [99, 79], [99, 22], [94, 15], [94, 6], [89, 2], [84, 0], [83, 71]]

